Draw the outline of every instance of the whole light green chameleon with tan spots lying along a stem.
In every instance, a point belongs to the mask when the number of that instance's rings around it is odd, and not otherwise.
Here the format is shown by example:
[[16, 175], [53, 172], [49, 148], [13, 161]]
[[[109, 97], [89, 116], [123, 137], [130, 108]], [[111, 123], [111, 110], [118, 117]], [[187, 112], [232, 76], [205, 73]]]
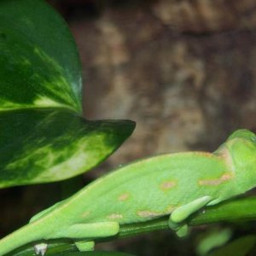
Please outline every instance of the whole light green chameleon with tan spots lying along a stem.
[[[256, 186], [256, 135], [235, 131], [215, 152], [162, 154], [120, 167], [67, 200], [35, 215], [0, 241], [0, 255], [29, 242], [44, 255], [51, 239], [70, 238], [79, 250], [115, 236], [123, 224], [168, 215], [174, 230], [203, 207]], [[185, 230], [185, 229], [184, 229]], [[84, 241], [84, 242], [83, 242]]]

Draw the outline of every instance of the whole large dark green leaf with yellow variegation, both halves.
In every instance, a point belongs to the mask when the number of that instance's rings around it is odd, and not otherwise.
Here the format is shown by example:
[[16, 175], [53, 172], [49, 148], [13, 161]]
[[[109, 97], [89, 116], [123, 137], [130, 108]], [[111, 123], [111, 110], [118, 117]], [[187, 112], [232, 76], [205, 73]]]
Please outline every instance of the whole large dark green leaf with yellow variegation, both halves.
[[79, 56], [41, 0], [0, 1], [0, 188], [90, 170], [125, 141], [131, 121], [81, 115]]

